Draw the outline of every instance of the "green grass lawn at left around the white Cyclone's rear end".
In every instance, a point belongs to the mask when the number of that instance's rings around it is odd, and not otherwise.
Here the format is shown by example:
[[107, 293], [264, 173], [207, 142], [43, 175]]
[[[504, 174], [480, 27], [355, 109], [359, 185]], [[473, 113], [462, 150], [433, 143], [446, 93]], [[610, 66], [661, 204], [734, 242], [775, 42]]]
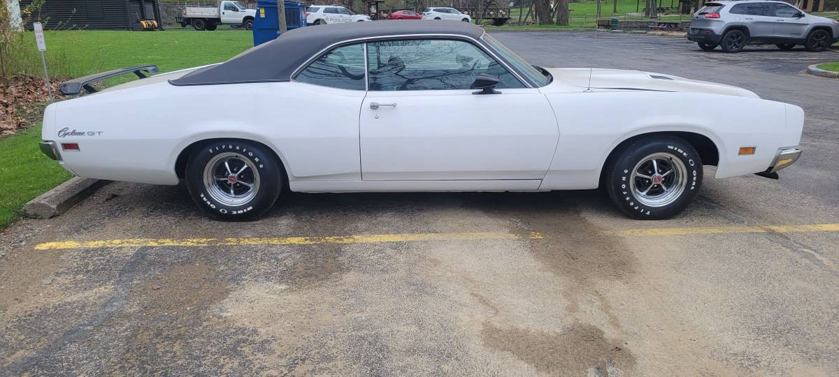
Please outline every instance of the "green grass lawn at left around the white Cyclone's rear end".
[[[161, 72], [220, 62], [253, 45], [251, 33], [242, 30], [173, 29], [155, 32], [67, 30], [47, 31], [50, 75], [79, 77], [133, 65], [155, 64]], [[32, 33], [18, 71], [43, 75]], [[18, 218], [23, 204], [69, 179], [70, 173], [41, 153], [41, 127], [0, 138], [0, 229]]]

